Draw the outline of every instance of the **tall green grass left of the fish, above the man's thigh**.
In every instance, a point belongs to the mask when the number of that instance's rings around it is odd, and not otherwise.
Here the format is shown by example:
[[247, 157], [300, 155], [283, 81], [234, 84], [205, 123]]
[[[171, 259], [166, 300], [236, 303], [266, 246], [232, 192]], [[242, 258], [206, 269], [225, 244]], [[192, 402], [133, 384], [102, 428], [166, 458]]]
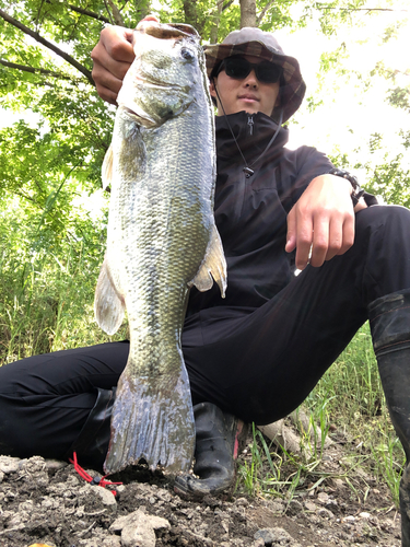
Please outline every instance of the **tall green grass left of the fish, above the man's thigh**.
[[[7, 198], [7, 197], [5, 197]], [[113, 338], [94, 321], [106, 219], [74, 211], [61, 232], [14, 199], [0, 205], [0, 364]]]

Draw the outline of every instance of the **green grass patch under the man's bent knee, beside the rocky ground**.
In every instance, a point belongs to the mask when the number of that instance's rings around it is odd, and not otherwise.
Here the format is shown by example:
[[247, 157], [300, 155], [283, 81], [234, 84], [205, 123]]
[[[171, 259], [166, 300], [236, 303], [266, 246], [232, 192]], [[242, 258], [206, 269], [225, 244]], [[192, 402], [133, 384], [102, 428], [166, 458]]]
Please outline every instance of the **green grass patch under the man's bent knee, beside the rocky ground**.
[[[278, 449], [254, 426], [249, 453], [239, 464], [237, 490], [290, 500], [330, 478], [341, 478], [353, 498], [363, 502], [370, 487], [365, 480], [356, 480], [362, 468], [387, 484], [398, 507], [405, 453], [388, 417], [367, 324], [323, 376], [303, 408], [309, 414], [312, 428], [318, 426], [321, 434], [302, 432], [301, 443], [307, 450], [295, 455]], [[345, 440], [344, 457], [337, 473], [327, 473], [323, 465], [324, 439], [328, 433], [331, 438], [332, 432]]]

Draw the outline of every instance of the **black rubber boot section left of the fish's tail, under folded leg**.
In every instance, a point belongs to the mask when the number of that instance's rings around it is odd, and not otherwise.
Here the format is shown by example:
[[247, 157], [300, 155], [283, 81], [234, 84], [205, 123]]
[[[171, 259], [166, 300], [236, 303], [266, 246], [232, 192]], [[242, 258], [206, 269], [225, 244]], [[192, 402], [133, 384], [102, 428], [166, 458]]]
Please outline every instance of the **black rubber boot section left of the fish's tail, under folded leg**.
[[90, 411], [79, 437], [72, 443], [66, 454], [66, 458], [72, 458], [73, 452], [82, 467], [90, 467], [103, 473], [103, 464], [108, 450], [110, 437], [110, 418], [115, 394], [117, 388], [101, 389], [99, 387], [95, 405]]

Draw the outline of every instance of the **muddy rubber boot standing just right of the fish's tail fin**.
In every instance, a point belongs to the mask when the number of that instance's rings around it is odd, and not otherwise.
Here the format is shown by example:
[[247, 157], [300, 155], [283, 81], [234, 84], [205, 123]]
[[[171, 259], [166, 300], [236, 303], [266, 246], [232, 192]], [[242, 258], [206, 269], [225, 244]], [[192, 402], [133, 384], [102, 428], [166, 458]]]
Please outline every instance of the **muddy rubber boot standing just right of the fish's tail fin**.
[[192, 475], [176, 477], [174, 490], [184, 498], [195, 499], [218, 494], [234, 486], [235, 461], [246, 441], [247, 424], [223, 412], [212, 403], [194, 407], [196, 449]]

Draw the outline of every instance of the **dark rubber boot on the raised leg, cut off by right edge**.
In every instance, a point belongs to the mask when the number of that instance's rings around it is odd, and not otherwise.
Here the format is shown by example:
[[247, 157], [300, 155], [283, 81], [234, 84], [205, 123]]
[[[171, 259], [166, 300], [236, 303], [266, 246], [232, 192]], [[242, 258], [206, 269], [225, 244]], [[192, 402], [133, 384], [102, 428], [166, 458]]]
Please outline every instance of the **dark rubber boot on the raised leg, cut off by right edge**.
[[368, 312], [387, 407], [406, 453], [399, 498], [401, 545], [410, 547], [410, 290], [375, 300]]

